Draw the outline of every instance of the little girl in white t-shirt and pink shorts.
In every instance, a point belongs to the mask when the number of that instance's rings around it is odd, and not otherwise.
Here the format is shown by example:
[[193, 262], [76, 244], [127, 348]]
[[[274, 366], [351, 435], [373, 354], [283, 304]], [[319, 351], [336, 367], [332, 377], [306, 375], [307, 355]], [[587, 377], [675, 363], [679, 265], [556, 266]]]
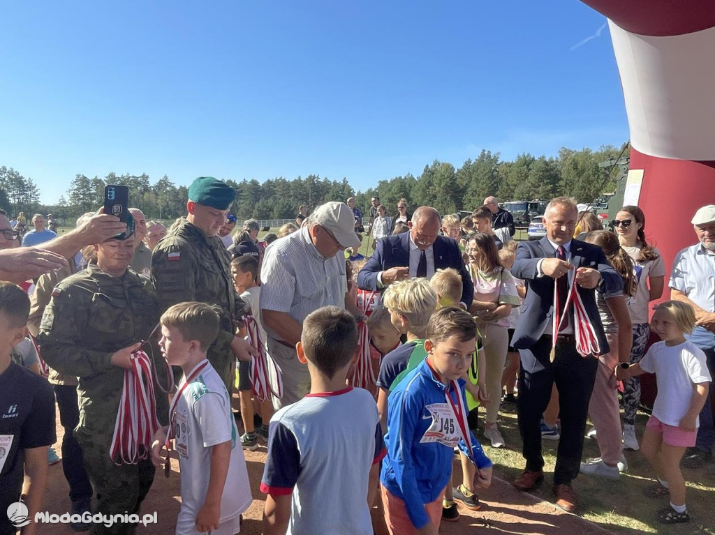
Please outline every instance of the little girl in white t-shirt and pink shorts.
[[708, 396], [711, 377], [703, 351], [685, 339], [685, 334], [695, 326], [692, 307], [666, 301], [655, 310], [651, 329], [662, 341], [653, 344], [639, 364], [616, 366], [616, 377], [656, 374], [658, 395], [641, 449], [659, 479], [649, 494], [654, 497], [670, 494], [670, 507], [660, 511], [658, 519], [664, 524], [676, 524], [690, 520], [680, 460], [686, 447], [695, 445], [698, 414]]

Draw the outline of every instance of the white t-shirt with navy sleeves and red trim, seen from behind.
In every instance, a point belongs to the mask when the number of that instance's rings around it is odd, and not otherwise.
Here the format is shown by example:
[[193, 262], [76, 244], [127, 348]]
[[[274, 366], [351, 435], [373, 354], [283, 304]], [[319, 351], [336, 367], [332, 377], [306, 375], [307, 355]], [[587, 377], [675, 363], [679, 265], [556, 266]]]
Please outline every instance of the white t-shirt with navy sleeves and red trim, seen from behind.
[[367, 390], [308, 394], [273, 415], [260, 489], [292, 494], [289, 535], [372, 535], [368, 478], [385, 453]]

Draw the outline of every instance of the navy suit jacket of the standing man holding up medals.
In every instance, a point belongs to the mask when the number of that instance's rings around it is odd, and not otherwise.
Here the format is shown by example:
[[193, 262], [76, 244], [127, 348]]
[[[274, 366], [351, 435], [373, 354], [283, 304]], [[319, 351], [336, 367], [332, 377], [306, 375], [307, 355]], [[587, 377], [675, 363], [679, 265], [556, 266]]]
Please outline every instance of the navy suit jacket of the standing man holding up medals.
[[[551, 334], [544, 331], [548, 320], [553, 315], [555, 280], [550, 276], [538, 277], [536, 264], [540, 259], [553, 258], [554, 256], [556, 256], [556, 251], [546, 237], [539, 241], [522, 241], [516, 249], [516, 260], [511, 268], [511, 274], [517, 279], [524, 279], [527, 287], [526, 298], [521, 306], [519, 324], [511, 342], [511, 345], [517, 349], [529, 349], [543, 334]], [[608, 264], [601, 247], [587, 244], [585, 241], [572, 240], [571, 264], [574, 269], [580, 267], [598, 269], [602, 276], [600, 284], [603, 284], [603, 289], [607, 293], [623, 288], [623, 277], [611, 267], [611, 264]], [[603, 334], [601, 317], [598, 315], [596, 307], [596, 291], [581, 288], [581, 286], [578, 286], [577, 291], [591, 323], [596, 328], [601, 354], [605, 354], [608, 352], [608, 342], [606, 335]]]

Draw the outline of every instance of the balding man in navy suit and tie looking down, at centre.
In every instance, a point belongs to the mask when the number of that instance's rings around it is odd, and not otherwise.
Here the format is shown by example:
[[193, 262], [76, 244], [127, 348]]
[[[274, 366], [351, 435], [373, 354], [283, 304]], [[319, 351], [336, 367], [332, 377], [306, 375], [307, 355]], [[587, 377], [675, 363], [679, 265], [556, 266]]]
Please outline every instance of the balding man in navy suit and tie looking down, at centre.
[[375, 253], [358, 273], [358, 287], [377, 291], [395, 281], [412, 277], [430, 279], [438, 269], [454, 268], [462, 276], [461, 306], [466, 310], [474, 299], [474, 285], [456, 241], [440, 236], [440, 214], [420, 206], [408, 223], [409, 232], [385, 236]]

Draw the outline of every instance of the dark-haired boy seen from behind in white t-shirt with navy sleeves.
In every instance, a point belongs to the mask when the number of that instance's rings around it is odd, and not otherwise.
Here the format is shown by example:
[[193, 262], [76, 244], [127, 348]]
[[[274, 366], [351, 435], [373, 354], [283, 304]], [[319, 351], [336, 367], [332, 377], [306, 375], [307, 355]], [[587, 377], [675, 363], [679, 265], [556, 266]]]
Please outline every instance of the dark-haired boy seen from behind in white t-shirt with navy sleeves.
[[360, 351], [355, 319], [337, 306], [317, 309], [296, 349], [310, 371], [310, 394], [270, 422], [263, 533], [372, 535], [385, 444], [373, 396], [345, 386]]

